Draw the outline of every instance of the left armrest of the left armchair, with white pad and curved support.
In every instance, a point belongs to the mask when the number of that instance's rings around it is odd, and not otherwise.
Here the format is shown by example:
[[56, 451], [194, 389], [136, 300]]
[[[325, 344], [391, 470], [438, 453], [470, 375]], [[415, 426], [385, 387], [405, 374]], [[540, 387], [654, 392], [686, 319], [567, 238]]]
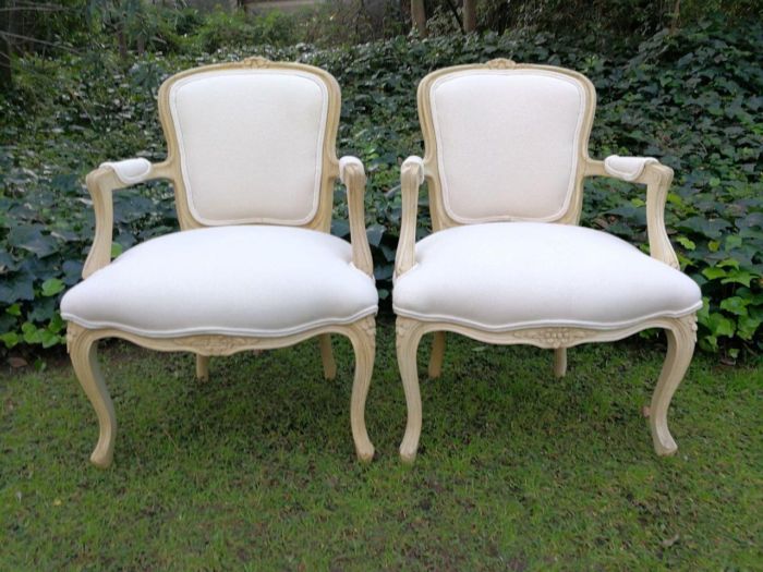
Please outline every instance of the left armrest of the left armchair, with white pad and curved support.
[[170, 169], [166, 162], [152, 165], [146, 159], [126, 159], [104, 162], [85, 178], [87, 191], [93, 198], [95, 210], [95, 238], [82, 269], [87, 278], [111, 261], [111, 238], [113, 231], [113, 200], [111, 192], [149, 181], [169, 179]]

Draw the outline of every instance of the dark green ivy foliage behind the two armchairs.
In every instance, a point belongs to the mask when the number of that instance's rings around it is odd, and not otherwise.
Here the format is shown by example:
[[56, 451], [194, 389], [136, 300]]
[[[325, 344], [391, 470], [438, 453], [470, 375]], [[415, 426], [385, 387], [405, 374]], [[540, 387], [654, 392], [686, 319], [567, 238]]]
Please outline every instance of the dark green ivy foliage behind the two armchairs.
[[[206, 41], [206, 40], [205, 40]], [[221, 45], [222, 42], [222, 45]], [[0, 340], [63, 343], [62, 292], [80, 280], [93, 235], [84, 174], [104, 160], [160, 160], [156, 93], [178, 71], [262, 54], [330, 71], [343, 90], [339, 151], [368, 172], [366, 217], [379, 294], [389, 301], [400, 227], [399, 165], [422, 154], [419, 80], [432, 70], [504, 57], [564, 65], [598, 93], [591, 155], [657, 157], [676, 171], [666, 223], [681, 267], [702, 287], [700, 345], [737, 357], [763, 351], [763, 24], [703, 24], [643, 41], [485, 34], [398, 37], [317, 50], [225, 45], [123, 60], [109, 50], [19, 62], [16, 93], [0, 99]], [[332, 232], [349, 235], [337, 187]], [[644, 190], [609, 179], [586, 183], [583, 223], [645, 251]], [[420, 235], [429, 231], [420, 200]], [[114, 194], [114, 255], [177, 228], [172, 190], [152, 183]]]

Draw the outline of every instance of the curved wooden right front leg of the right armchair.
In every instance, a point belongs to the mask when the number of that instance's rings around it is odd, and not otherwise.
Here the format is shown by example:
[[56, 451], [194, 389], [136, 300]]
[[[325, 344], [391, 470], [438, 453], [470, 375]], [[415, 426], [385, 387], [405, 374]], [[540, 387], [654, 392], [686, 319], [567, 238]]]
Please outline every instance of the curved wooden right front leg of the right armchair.
[[689, 368], [697, 342], [697, 317], [685, 316], [675, 320], [675, 328], [667, 329], [667, 355], [652, 394], [649, 423], [654, 451], [658, 455], [675, 454], [678, 446], [667, 425], [667, 412], [673, 394]]

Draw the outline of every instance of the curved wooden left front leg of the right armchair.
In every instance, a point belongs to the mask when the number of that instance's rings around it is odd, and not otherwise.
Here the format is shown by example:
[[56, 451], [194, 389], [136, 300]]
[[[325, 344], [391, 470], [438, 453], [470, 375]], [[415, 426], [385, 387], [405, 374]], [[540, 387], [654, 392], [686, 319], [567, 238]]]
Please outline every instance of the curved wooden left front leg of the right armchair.
[[405, 391], [405, 404], [408, 405], [408, 423], [405, 435], [400, 443], [400, 458], [405, 463], [413, 463], [419, 450], [421, 437], [421, 391], [419, 389], [419, 370], [416, 368], [416, 353], [422, 332], [420, 322], [409, 318], [397, 319], [397, 353], [398, 365], [402, 387]]

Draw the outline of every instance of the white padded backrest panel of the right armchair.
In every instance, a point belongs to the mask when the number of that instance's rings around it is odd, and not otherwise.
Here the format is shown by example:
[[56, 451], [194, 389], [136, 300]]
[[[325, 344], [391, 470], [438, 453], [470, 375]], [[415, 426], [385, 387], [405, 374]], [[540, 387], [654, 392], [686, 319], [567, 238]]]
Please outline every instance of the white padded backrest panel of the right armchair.
[[469, 70], [431, 87], [448, 215], [462, 223], [554, 220], [574, 190], [585, 92], [543, 70]]

